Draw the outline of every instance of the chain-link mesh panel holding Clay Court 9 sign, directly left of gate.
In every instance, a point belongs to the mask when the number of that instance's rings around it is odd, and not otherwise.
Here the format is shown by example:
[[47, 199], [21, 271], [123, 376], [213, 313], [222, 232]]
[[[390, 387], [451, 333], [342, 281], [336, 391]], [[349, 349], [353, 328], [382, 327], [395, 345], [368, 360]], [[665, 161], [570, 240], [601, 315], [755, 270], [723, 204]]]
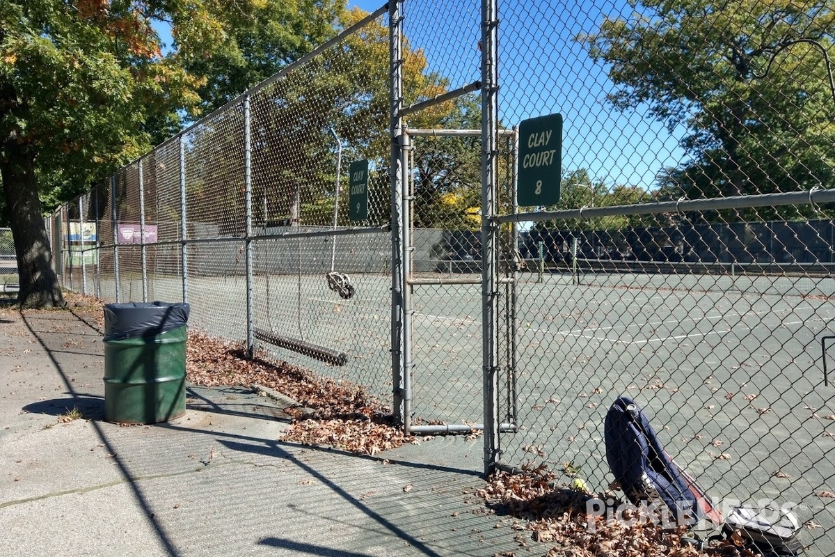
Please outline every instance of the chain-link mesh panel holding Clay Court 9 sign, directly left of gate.
[[[387, 75], [377, 18], [253, 95], [252, 257], [264, 346], [390, 404]], [[361, 160], [367, 211], [352, 218], [349, 170]]]

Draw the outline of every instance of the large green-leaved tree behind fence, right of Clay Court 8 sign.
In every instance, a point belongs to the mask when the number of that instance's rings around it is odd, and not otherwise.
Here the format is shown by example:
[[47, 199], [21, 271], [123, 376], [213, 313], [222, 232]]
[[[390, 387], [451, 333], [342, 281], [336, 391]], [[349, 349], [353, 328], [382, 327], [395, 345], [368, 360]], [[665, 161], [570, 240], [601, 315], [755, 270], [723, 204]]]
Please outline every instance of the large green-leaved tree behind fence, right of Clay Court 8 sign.
[[[833, 185], [833, 3], [646, 0], [577, 38], [615, 107], [684, 126], [691, 160], [661, 185], [691, 198]], [[798, 76], [802, 76], [799, 78]]]

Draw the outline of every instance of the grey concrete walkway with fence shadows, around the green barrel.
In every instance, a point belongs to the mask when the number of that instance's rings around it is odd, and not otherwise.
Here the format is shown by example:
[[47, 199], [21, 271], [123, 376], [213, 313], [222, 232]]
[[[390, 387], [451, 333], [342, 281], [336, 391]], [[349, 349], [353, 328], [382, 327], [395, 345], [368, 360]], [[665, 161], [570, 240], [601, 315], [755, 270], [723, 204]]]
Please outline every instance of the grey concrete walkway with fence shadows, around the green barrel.
[[[369, 458], [278, 439], [278, 403], [193, 389], [185, 416], [104, 422], [104, 352], [73, 311], [0, 309], [0, 553], [544, 554], [491, 514], [482, 440]], [[59, 423], [73, 408], [82, 419]], [[514, 540], [521, 534], [528, 544]]]

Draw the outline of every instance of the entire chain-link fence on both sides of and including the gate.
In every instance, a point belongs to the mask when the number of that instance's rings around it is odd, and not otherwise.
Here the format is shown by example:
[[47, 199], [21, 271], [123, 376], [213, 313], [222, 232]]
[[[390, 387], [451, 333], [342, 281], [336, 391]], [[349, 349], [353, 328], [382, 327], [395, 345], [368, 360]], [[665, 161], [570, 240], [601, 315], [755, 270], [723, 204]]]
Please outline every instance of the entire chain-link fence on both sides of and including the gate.
[[715, 499], [796, 504], [832, 554], [831, 13], [355, 12], [53, 215], [57, 268], [189, 301], [413, 433], [483, 428], [486, 469], [605, 489], [605, 413], [631, 397]]

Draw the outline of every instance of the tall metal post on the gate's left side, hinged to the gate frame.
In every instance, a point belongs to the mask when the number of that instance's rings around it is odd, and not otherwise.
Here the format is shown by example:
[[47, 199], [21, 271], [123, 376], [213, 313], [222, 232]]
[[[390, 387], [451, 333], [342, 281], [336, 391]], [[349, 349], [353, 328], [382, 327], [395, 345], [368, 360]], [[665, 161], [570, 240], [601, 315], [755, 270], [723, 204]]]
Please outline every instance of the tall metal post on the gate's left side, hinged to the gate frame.
[[[403, 59], [402, 59], [402, 0], [388, 4], [389, 24], [389, 87], [390, 126], [392, 137], [392, 165], [389, 170], [392, 182], [392, 413], [395, 418], [406, 418], [403, 411], [403, 360], [402, 360], [402, 316], [403, 316], [403, 267], [402, 267], [402, 185], [400, 134], [403, 108]], [[404, 423], [407, 420], [404, 419]]]

